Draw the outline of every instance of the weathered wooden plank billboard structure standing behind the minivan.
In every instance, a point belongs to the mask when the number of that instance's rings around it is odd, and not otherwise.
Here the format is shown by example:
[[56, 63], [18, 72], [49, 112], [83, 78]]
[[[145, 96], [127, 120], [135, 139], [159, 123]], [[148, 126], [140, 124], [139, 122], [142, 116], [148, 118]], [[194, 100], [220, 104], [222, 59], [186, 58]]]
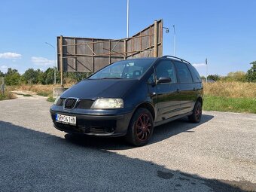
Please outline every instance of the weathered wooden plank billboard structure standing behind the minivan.
[[138, 57], [163, 55], [163, 20], [131, 38], [102, 39], [57, 37], [58, 70], [61, 72], [97, 72], [112, 62]]

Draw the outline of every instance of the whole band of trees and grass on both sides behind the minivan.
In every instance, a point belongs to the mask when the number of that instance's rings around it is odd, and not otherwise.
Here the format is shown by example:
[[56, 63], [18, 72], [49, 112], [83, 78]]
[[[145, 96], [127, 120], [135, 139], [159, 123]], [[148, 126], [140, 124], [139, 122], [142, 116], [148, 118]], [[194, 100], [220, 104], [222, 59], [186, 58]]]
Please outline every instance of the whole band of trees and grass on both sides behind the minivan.
[[[256, 61], [251, 62], [248, 72], [230, 72], [226, 76], [209, 75], [211, 83], [204, 84], [203, 110], [206, 111], [232, 111], [242, 113], [256, 113]], [[65, 87], [81, 81], [89, 73], [64, 73]], [[28, 69], [23, 75], [16, 69], [8, 69], [5, 74], [0, 72], [0, 77], [5, 76], [7, 90], [5, 96], [0, 93], [1, 99], [14, 99], [11, 90], [29, 90], [39, 96], [47, 96], [47, 101], [54, 102], [53, 87], [59, 87], [59, 72], [56, 75], [56, 85], [53, 85], [53, 69], [45, 72]], [[203, 81], [205, 77], [201, 77]]]

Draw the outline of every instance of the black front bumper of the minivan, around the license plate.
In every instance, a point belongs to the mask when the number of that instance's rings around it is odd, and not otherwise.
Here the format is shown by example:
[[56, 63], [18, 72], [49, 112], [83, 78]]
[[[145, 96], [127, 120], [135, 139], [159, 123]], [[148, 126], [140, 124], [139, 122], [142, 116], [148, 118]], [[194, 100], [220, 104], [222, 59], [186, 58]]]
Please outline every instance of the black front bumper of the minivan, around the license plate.
[[[50, 108], [53, 125], [57, 130], [90, 136], [124, 136], [133, 115], [133, 111], [130, 109], [94, 110], [94, 112], [92, 110], [66, 111], [59, 109], [54, 105]], [[56, 114], [75, 116], [77, 123], [74, 126], [56, 122]]]

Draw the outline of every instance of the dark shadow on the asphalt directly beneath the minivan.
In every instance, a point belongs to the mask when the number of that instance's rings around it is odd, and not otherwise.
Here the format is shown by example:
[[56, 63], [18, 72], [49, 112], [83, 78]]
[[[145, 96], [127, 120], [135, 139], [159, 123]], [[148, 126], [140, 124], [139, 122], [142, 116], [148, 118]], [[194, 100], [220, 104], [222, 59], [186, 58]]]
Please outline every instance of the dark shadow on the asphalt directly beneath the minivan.
[[[203, 114], [200, 123], [190, 123], [187, 117], [184, 117], [179, 120], [174, 120], [172, 122], [163, 124], [161, 126], [156, 126], [154, 127], [154, 133], [148, 145], [161, 142], [164, 139], [169, 139], [170, 137], [179, 133], [194, 133], [197, 126], [212, 120], [213, 117], [214, 116], [212, 115]], [[93, 136], [77, 136], [67, 133], [65, 138], [69, 142], [87, 148], [102, 148], [106, 150], [125, 150], [134, 148], [134, 146], [127, 143], [123, 137], [104, 138]]]

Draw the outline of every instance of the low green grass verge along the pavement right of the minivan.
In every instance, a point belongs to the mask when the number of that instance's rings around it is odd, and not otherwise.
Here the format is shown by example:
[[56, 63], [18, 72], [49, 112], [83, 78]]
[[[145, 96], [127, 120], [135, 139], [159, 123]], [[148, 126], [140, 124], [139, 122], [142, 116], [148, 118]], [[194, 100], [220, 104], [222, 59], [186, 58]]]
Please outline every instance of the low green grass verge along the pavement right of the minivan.
[[224, 96], [204, 96], [203, 110], [230, 111], [256, 114], [256, 98], [231, 98]]

